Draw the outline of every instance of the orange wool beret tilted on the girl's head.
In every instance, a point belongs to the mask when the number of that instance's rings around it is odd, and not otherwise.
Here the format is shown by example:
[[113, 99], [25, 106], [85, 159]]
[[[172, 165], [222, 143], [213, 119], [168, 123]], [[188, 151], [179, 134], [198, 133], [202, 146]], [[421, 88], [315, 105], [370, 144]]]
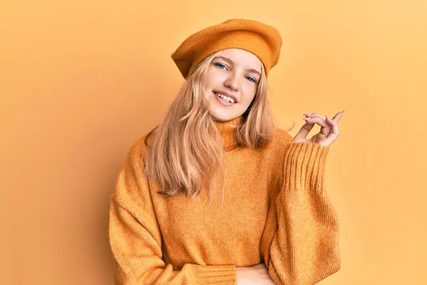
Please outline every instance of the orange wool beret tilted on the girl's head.
[[241, 48], [258, 56], [268, 75], [279, 61], [282, 37], [273, 26], [246, 19], [231, 19], [186, 38], [172, 59], [186, 78], [206, 56], [227, 48]]

